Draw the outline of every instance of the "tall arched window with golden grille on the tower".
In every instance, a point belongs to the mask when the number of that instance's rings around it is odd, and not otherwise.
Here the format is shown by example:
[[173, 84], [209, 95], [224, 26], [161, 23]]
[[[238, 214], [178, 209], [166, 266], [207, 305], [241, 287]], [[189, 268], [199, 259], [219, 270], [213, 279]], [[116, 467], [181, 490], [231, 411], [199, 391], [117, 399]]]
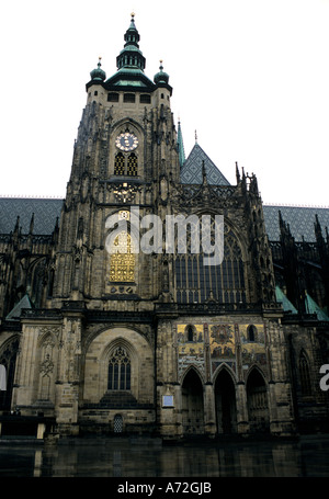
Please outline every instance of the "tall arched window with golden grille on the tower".
[[132, 236], [122, 231], [114, 239], [110, 254], [110, 281], [134, 282], [135, 263], [136, 257]]

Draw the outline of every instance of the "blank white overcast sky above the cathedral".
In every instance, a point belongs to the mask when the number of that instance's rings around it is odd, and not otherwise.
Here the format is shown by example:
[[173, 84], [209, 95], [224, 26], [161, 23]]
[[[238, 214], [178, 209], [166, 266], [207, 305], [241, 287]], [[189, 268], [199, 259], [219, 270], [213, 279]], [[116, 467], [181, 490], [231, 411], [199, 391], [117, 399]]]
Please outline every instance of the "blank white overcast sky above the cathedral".
[[197, 141], [266, 204], [329, 206], [329, 0], [15, 0], [1, 4], [0, 195], [65, 197], [86, 83], [107, 78], [135, 12], [146, 75]]

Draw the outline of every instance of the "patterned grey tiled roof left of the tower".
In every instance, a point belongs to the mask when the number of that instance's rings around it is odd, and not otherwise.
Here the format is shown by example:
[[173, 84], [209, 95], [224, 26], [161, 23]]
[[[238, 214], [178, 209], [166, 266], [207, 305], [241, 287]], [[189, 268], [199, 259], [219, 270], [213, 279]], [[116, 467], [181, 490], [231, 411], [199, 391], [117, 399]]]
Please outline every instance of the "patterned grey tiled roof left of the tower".
[[0, 197], [0, 234], [14, 230], [18, 216], [22, 234], [29, 234], [30, 223], [34, 213], [34, 229], [37, 235], [52, 234], [56, 218], [60, 217], [63, 200]]

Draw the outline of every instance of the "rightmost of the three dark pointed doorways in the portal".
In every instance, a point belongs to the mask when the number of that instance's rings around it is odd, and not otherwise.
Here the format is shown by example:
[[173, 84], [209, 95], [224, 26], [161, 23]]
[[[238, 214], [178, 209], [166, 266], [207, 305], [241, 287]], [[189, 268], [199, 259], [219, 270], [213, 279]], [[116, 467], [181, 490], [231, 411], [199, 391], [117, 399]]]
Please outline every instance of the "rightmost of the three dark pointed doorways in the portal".
[[270, 415], [268, 390], [263, 376], [253, 368], [247, 379], [247, 404], [250, 432], [268, 432]]

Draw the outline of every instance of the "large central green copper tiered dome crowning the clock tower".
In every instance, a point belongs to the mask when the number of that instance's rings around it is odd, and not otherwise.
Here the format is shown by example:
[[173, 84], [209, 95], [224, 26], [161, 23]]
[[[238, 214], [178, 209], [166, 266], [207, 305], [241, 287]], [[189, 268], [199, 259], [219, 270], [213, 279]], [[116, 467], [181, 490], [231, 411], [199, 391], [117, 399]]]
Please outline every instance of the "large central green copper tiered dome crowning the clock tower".
[[146, 59], [139, 49], [140, 36], [135, 25], [134, 13], [124, 39], [124, 48], [116, 57], [117, 71], [106, 80], [106, 88], [109, 90], [152, 91], [155, 84], [144, 73]]

